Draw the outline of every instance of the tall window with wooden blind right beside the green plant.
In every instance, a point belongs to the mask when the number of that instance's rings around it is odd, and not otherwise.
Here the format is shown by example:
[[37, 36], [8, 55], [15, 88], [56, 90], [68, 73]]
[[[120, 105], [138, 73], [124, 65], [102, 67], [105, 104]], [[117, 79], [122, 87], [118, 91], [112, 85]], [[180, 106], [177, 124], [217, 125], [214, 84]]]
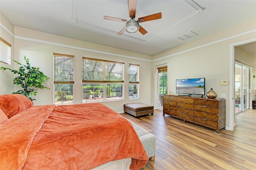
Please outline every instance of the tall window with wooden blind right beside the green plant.
[[74, 56], [57, 53], [53, 55], [55, 103], [73, 103]]

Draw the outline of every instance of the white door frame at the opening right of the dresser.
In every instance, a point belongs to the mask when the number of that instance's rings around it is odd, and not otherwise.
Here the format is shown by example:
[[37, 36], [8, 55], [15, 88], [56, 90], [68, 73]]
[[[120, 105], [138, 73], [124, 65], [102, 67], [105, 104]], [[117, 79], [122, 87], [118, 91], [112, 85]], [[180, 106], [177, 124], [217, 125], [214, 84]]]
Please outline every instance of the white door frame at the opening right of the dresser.
[[235, 120], [235, 103], [234, 103], [234, 94], [235, 94], [235, 89], [234, 89], [234, 70], [235, 70], [235, 46], [243, 45], [243, 44], [248, 44], [250, 42], [255, 42], [256, 38], [251, 38], [248, 40], [232, 43], [229, 45], [229, 66], [230, 66], [230, 72], [229, 72], [229, 127], [226, 127], [227, 130], [234, 130], [234, 126], [236, 126]]

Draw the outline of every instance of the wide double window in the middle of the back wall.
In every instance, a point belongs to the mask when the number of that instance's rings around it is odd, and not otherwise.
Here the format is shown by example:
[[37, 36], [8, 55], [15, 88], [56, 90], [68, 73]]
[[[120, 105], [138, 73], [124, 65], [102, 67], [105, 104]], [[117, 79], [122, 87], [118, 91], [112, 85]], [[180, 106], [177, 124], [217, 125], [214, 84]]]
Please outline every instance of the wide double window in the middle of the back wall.
[[83, 57], [83, 102], [124, 100], [124, 63]]

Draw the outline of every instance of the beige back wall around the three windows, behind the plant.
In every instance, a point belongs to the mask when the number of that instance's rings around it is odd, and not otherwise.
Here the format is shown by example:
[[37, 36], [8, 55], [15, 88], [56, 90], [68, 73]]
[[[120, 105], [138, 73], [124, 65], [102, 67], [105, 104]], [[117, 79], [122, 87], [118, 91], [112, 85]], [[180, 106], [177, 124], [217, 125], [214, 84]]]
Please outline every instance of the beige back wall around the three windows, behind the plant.
[[[38, 95], [34, 98], [35, 105], [53, 104], [53, 53], [74, 55], [74, 103], [82, 103], [82, 57], [99, 58], [105, 60], [119, 61], [125, 63], [125, 100], [118, 102], [104, 102], [117, 112], [123, 111], [123, 104], [129, 102], [144, 102], [153, 104], [148, 97], [151, 91], [150, 83], [152, 75], [150, 74], [152, 56], [130, 52], [127, 50], [115, 49], [99, 44], [93, 44], [80, 40], [74, 40], [62, 36], [38, 32], [20, 27], [14, 27], [14, 59], [24, 64], [23, 56], [30, 60], [30, 64], [39, 67], [50, 80], [45, 84], [51, 90], [38, 89]], [[135, 59], [135, 58], [140, 58]], [[140, 99], [128, 100], [128, 66], [129, 63], [140, 65]], [[18, 65], [14, 64], [18, 69]], [[1, 84], [4, 84], [1, 82]], [[20, 89], [20, 86], [14, 86], [14, 91]], [[4, 94], [4, 93], [2, 93]]]

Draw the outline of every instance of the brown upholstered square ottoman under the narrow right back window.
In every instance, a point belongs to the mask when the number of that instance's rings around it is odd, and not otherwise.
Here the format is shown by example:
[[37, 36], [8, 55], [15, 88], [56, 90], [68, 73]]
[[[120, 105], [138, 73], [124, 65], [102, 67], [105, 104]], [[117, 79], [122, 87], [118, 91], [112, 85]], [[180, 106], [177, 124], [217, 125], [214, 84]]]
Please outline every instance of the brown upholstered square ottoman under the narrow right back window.
[[154, 106], [150, 106], [144, 103], [129, 103], [124, 104], [124, 112], [135, 116], [146, 115], [146, 114], [154, 114]]

